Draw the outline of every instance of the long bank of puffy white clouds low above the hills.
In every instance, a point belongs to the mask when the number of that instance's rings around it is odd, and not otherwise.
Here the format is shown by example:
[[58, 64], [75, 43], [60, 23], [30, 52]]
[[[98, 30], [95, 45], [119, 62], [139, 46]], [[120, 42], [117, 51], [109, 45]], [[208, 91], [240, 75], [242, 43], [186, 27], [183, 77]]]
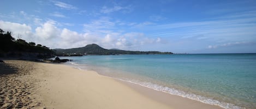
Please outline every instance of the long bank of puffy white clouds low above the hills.
[[[14, 31], [15, 35], [22, 35], [21, 39], [44, 44], [50, 48], [76, 48], [97, 43], [107, 49], [119, 48], [134, 50], [138, 46], [156, 44], [161, 41], [160, 38], [149, 38], [142, 33], [118, 33], [113, 31], [100, 34], [90, 32], [78, 33], [67, 28], [58, 28], [58, 22], [56, 21], [49, 20], [42, 23], [42, 20], [35, 19], [34, 22], [40, 23], [34, 32], [32, 32], [33, 30], [29, 25], [4, 21], [0, 21], [0, 28]], [[102, 23], [108, 24], [108, 22]], [[98, 28], [105, 27], [99, 25]]]

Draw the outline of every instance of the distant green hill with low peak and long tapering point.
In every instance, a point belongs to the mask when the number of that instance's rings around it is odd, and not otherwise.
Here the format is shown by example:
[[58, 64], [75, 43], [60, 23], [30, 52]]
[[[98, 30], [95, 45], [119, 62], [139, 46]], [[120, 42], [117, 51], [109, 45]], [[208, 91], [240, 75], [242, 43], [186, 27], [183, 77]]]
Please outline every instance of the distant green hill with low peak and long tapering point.
[[57, 56], [78, 56], [78, 55], [118, 55], [118, 54], [172, 54], [171, 52], [140, 52], [119, 49], [105, 49], [97, 44], [88, 44], [85, 47], [70, 49], [54, 49]]

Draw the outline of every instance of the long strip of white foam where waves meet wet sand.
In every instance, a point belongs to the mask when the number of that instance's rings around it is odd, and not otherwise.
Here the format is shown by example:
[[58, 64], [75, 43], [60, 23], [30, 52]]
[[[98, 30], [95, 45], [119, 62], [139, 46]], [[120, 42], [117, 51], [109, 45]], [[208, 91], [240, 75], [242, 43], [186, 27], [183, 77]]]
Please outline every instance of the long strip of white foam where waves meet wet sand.
[[178, 96], [181, 96], [181, 97], [184, 97], [184, 98], [197, 100], [197, 101], [203, 102], [205, 104], [217, 105], [217, 106], [220, 106], [222, 108], [245, 109], [245, 107], [236, 106], [234, 104], [229, 104], [227, 102], [221, 102], [221, 101], [218, 101], [218, 100], [210, 99], [210, 98], [203, 97], [201, 95], [196, 95], [196, 94], [193, 94], [193, 93], [186, 93], [186, 92], [174, 89], [174, 88], [153, 84], [151, 82], [142, 82], [142, 81], [138, 81], [138, 80], [123, 80], [123, 79], [118, 79], [118, 80], [127, 81], [127, 82], [130, 82], [132, 84], [136, 84], [136, 85], [140, 85], [140, 86], [144, 86], [144, 87], [147, 87], [147, 88], [154, 89], [156, 91], [161, 91], [161, 92], [169, 93], [169, 94], [172, 94], [172, 95], [178, 95]]

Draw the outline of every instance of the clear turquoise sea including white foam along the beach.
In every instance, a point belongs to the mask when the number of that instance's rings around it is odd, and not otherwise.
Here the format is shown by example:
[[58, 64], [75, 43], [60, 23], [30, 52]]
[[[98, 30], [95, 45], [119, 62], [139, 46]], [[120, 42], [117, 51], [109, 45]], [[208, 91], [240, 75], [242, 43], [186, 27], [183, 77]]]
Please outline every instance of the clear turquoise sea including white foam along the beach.
[[70, 66], [224, 108], [256, 108], [256, 54], [61, 57]]

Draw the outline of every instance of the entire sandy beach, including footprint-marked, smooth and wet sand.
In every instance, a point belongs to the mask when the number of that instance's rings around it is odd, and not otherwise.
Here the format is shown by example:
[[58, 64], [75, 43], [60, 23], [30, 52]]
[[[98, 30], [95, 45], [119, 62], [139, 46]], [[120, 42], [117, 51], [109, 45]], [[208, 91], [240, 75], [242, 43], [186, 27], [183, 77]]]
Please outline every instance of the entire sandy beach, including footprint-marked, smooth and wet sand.
[[[221, 108], [62, 64], [1, 63], [1, 108]], [[3, 74], [2, 74], [3, 73]]]

